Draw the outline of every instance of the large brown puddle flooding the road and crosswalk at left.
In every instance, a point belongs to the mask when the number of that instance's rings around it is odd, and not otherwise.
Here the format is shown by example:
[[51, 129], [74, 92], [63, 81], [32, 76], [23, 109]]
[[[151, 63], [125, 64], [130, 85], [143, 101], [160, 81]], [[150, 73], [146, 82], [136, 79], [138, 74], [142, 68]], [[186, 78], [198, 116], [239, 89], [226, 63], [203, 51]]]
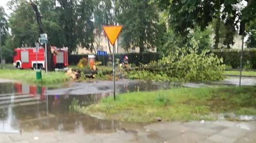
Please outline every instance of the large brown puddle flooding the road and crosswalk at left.
[[[95, 84], [95, 83], [93, 83]], [[142, 81], [121, 85], [117, 83], [117, 92], [166, 89], [168, 83], [145, 83]], [[98, 102], [109, 96], [109, 87], [95, 87], [101, 93], [71, 95], [46, 95], [47, 88], [28, 86], [20, 83], [0, 83], [0, 132], [23, 132], [54, 129], [74, 132], [112, 132], [116, 130], [132, 131], [143, 124], [100, 120], [69, 110], [73, 99], [83, 105]], [[62, 89], [56, 89], [61, 91]], [[87, 89], [83, 89], [87, 90]], [[102, 92], [103, 91], [103, 92]], [[86, 91], [84, 91], [86, 93]]]

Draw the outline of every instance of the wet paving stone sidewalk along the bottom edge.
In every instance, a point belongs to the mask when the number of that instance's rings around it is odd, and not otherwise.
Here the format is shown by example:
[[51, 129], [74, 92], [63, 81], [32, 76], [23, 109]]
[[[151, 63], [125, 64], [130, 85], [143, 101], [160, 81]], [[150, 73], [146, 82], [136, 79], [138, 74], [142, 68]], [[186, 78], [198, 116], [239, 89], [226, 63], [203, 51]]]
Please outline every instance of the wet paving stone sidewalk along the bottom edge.
[[115, 132], [44, 130], [0, 133], [0, 143], [9, 142], [256, 142], [256, 122], [161, 122], [138, 129]]

